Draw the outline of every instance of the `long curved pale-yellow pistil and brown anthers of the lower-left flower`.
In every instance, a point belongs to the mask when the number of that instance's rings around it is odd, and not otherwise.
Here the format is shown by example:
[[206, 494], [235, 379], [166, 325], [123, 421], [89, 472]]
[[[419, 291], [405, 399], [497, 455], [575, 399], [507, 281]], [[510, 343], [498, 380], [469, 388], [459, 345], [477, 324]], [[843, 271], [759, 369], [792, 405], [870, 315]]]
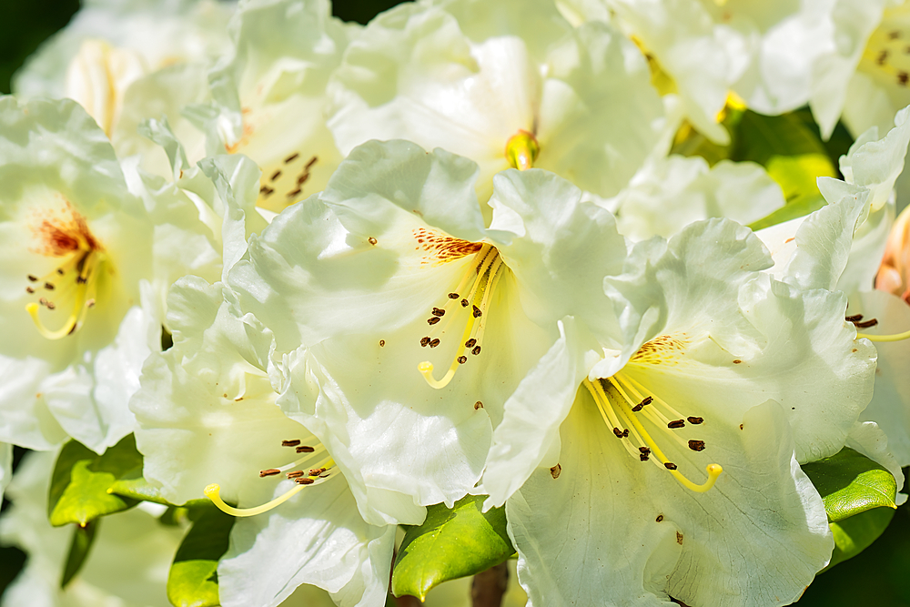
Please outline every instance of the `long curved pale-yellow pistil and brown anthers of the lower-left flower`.
[[263, 512], [268, 512], [277, 508], [308, 487], [315, 487], [338, 476], [339, 470], [335, 465], [335, 460], [326, 457], [326, 448], [321, 443], [317, 443], [315, 446], [309, 446], [301, 444], [302, 442], [303, 441], [299, 439], [282, 440], [281, 446], [293, 447], [297, 453], [304, 453], [303, 457], [278, 468], [259, 470], [260, 479], [277, 477], [283, 473], [287, 480], [294, 481], [295, 486], [293, 488], [289, 491], [285, 491], [274, 500], [267, 501], [255, 508], [235, 508], [221, 499], [221, 487], [216, 483], [208, 485], [203, 493], [205, 493], [206, 497], [217, 506], [218, 510], [226, 512], [231, 516], [256, 516], [257, 514], [262, 514]]

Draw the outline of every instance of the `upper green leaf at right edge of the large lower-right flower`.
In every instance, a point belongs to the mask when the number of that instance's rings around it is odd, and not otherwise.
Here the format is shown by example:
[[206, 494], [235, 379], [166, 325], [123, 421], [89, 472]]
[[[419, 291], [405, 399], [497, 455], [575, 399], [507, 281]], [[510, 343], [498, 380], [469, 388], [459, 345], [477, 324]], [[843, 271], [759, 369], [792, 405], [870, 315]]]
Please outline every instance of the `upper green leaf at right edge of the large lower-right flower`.
[[822, 496], [828, 521], [840, 522], [873, 508], [897, 508], [897, 482], [891, 472], [856, 451], [844, 448], [803, 471]]

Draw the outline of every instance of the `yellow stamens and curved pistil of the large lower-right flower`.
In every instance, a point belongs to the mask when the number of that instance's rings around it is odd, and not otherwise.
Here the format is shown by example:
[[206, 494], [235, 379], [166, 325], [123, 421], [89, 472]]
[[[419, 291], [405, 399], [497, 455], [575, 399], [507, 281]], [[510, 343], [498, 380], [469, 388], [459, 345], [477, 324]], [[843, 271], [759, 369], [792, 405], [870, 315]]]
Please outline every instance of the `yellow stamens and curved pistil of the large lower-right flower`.
[[720, 464], [709, 463], [705, 467], [708, 478], [703, 483], [690, 481], [661, 449], [657, 440], [669, 439], [682, 449], [700, 453], [706, 448], [704, 440], [684, 440], [676, 430], [687, 428], [687, 423], [699, 426], [704, 423], [703, 418], [683, 417], [658, 396], [646, 394], [642, 384], [622, 372], [607, 379], [585, 379], [582, 385], [591, 393], [603, 422], [633, 459], [652, 462], [690, 491], [703, 493], [714, 486], [723, 472]]

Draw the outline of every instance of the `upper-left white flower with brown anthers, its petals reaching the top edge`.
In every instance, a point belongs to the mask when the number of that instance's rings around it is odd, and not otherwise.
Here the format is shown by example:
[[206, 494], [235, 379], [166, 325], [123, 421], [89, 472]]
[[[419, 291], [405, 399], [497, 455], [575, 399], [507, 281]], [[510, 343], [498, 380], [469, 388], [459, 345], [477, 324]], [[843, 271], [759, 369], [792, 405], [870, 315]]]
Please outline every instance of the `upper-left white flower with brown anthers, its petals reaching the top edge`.
[[210, 154], [262, 169], [258, 205], [278, 212], [325, 187], [341, 155], [326, 126], [326, 85], [356, 25], [328, 0], [252, 0], [228, 31], [233, 48], [209, 74], [214, 102], [193, 108]]

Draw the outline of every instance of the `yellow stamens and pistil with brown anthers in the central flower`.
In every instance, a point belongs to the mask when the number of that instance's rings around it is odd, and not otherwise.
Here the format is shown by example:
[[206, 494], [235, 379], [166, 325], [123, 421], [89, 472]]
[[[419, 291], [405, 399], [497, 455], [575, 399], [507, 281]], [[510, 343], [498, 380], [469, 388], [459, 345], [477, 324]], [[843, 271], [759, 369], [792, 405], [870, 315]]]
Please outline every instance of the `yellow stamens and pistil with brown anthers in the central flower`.
[[[490, 298], [503, 268], [505, 266], [499, 251], [491, 245], [481, 245], [480, 249], [473, 254], [473, 263], [468, 265], [458, 287], [448, 293], [440, 308], [434, 307], [430, 311], [427, 323], [432, 329], [430, 329], [429, 335], [420, 339], [421, 348], [437, 348], [451, 323], [464, 322], [459, 345], [455, 349], [449, 369], [442, 379], [433, 377], [433, 364], [429, 360], [418, 365], [417, 369], [430, 387], [445, 388], [455, 377], [455, 373], [461, 365], [468, 363], [469, 354], [471, 358], [480, 355], [483, 333], [489, 318], [486, 312], [490, 308]], [[444, 322], [443, 319], [445, 319]]]

